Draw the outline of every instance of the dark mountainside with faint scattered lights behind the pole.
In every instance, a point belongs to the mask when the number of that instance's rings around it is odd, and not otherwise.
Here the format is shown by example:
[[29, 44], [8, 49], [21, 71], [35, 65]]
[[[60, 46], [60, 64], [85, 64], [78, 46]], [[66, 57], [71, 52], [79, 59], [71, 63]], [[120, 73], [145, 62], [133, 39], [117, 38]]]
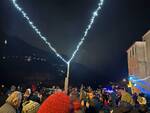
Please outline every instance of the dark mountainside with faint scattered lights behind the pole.
[[[63, 86], [66, 64], [55, 54], [35, 48], [15, 36], [1, 33], [0, 37], [0, 82], [32, 83], [33, 81], [44, 81]], [[92, 70], [82, 64], [71, 63], [70, 85], [93, 84], [92, 77]]]

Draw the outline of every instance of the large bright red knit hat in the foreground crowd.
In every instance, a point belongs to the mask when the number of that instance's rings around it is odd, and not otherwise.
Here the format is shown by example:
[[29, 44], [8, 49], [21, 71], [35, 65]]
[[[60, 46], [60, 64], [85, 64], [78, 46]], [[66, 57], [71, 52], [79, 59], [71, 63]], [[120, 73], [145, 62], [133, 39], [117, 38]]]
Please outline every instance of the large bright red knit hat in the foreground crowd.
[[38, 113], [69, 113], [70, 98], [62, 92], [49, 96], [41, 105]]

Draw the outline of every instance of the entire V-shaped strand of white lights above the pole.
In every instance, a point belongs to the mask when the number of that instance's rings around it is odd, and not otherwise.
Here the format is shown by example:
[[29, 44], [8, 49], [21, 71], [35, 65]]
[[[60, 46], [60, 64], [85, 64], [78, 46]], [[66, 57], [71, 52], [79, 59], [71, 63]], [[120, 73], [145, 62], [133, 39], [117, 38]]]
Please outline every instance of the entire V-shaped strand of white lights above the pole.
[[83, 44], [85, 37], [87, 36], [89, 30], [91, 29], [95, 18], [98, 16], [98, 12], [99, 10], [102, 8], [103, 2], [104, 0], [100, 0], [98, 3], [98, 8], [93, 12], [93, 15], [91, 17], [90, 23], [87, 26], [83, 37], [81, 38], [80, 42], [78, 43], [76, 49], [74, 50], [73, 54], [71, 55], [70, 59], [67, 61], [65, 60], [57, 51], [56, 49], [51, 45], [51, 43], [49, 43], [47, 41], [47, 38], [44, 37], [41, 32], [39, 31], [39, 29], [33, 24], [33, 22], [31, 21], [31, 19], [28, 17], [28, 15], [22, 10], [22, 8], [16, 3], [16, 0], [11, 0], [13, 2], [13, 5], [15, 6], [15, 8], [21, 12], [21, 14], [23, 15], [23, 17], [27, 20], [27, 22], [29, 23], [29, 25], [31, 26], [31, 28], [36, 32], [36, 34], [39, 35], [39, 37], [49, 46], [49, 48], [55, 53], [55, 55], [57, 57], [59, 57], [62, 61], [64, 61], [65, 63], [67, 63], [68, 65], [70, 64], [70, 62], [73, 60], [73, 58], [75, 57], [75, 55], [77, 54], [77, 52], [79, 51], [81, 45]]

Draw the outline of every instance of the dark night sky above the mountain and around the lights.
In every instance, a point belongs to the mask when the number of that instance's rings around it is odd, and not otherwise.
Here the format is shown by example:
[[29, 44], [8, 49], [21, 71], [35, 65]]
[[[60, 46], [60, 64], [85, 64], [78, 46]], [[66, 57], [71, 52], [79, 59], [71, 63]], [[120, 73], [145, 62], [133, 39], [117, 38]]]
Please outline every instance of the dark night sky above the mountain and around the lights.
[[[99, 0], [17, 0], [48, 41], [72, 54]], [[10, 0], [0, 4], [1, 30], [49, 51]], [[126, 50], [150, 29], [150, 0], [104, 0], [74, 62], [108, 77], [127, 74]]]

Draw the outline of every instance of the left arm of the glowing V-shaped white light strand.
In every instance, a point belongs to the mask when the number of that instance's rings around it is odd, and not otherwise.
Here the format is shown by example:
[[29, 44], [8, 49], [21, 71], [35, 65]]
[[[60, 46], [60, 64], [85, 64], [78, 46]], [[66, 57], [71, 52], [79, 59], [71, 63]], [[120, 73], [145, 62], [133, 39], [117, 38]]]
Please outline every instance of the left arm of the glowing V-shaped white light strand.
[[55, 55], [60, 58], [62, 61], [67, 63], [67, 61], [56, 51], [56, 49], [47, 41], [47, 38], [42, 35], [42, 33], [39, 31], [39, 29], [33, 24], [29, 16], [22, 10], [22, 8], [16, 3], [16, 0], [11, 0], [13, 2], [13, 5], [15, 8], [21, 12], [23, 17], [27, 20], [31, 28], [35, 31], [36, 34], [39, 35], [39, 37], [48, 45], [48, 47], [55, 53]]

